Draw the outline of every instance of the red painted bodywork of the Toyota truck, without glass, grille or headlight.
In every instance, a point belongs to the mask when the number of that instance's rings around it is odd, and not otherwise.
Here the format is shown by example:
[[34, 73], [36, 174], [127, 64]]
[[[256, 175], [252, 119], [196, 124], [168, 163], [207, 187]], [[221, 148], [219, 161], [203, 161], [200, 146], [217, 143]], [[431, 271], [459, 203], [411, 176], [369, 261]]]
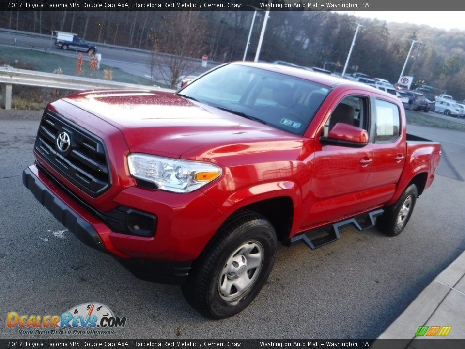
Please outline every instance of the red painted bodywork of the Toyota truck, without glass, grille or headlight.
[[[100, 210], [126, 205], [155, 214], [158, 226], [154, 237], [110, 231], [35, 166], [30, 168], [95, 227], [109, 252], [126, 258], [167, 261], [195, 260], [227, 217], [261, 200], [291, 198], [294, 215], [290, 236], [294, 236], [395, 202], [416, 174], [426, 172], [426, 186], [431, 184], [440, 157], [439, 146], [407, 144], [405, 115], [397, 98], [324, 74], [267, 64], [254, 66], [331, 88], [304, 136], [157, 91], [79, 92], [48, 106], [103, 139], [113, 184], [103, 195], [92, 198], [36, 154], [38, 161]], [[320, 143], [327, 118], [347, 95], [378, 97], [396, 104], [401, 111], [401, 137], [382, 144], [370, 138], [369, 144], [359, 148]], [[360, 132], [342, 128], [348, 140], [361, 140]], [[126, 157], [130, 152], [210, 161], [223, 169], [223, 175], [188, 194], [144, 189], [129, 174]]]

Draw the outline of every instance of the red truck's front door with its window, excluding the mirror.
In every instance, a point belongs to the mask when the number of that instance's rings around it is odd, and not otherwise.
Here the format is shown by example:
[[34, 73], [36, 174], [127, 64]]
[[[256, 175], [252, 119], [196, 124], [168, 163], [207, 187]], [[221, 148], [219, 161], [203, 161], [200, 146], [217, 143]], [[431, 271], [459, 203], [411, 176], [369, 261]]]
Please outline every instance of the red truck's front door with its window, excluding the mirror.
[[357, 212], [371, 169], [373, 147], [335, 145], [318, 141], [337, 123], [360, 127], [369, 132], [368, 95], [344, 95], [333, 103], [331, 114], [317, 133], [310, 185], [302, 228], [339, 221]]

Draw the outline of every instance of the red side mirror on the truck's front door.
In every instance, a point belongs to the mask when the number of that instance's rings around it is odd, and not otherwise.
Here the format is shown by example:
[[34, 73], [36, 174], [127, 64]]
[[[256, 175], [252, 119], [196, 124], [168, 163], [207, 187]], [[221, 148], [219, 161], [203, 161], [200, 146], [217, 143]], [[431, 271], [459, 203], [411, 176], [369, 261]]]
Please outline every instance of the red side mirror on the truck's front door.
[[368, 144], [368, 132], [353, 125], [337, 123], [327, 137], [320, 137], [320, 141], [324, 144], [363, 147]]

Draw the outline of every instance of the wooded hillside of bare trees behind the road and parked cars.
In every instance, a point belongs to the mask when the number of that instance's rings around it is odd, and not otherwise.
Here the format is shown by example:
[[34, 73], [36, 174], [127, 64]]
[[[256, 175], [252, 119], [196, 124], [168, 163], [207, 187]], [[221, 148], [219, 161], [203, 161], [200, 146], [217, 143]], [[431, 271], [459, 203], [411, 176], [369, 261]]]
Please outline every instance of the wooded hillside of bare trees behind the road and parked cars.
[[[178, 11], [179, 12], [179, 11]], [[173, 31], [173, 37], [195, 33], [197, 46], [189, 48], [196, 58], [242, 60], [253, 11], [201, 11], [187, 13], [196, 21], [188, 27], [167, 26], [166, 11], [2, 11], [0, 27], [51, 34], [75, 32], [90, 41], [176, 54], [175, 45], [161, 45], [154, 32]], [[247, 59], [253, 60], [263, 22], [257, 12]], [[186, 17], [186, 18], [187, 18]], [[427, 25], [386, 23], [322, 11], [272, 11], [260, 60], [288, 61], [341, 72], [355, 32], [354, 22], [364, 25], [357, 36], [348, 72], [396, 82], [410, 48], [416, 44], [405, 69], [416, 84], [446, 90], [457, 99], [465, 98], [465, 32], [441, 30]], [[202, 23], [199, 28], [198, 23]]]

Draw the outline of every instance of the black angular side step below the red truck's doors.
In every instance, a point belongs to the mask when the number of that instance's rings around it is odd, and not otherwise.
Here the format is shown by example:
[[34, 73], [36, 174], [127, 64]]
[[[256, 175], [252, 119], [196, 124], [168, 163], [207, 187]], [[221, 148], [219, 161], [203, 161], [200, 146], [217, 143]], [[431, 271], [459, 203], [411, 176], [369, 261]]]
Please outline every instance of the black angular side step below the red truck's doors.
[[[303, 240], [312, 250], [314, 250], [318, 247], [325, 246], [328, 243], [338, 240], [340, 238], [339, 229], [346, 225], [352, 224], [360, 231], [367, 228], [371, 228], [375, 224], [376, 216], [379, 216], [383, 212], [383, 209], [378, 209], [360, 216], [356, 216], [341, 222], [334, 223], [329, 227], [329, 230], [326, 231], [326, 235], [319, 236], [317, 238], [314, 238], [314, 236], [317, 233], [321, 232], [321, 229], [306, 231], [302, 234], [290, 238], [288, 240], [288, 245]], [[313, 239], [311, 239], [312, 237]]]

